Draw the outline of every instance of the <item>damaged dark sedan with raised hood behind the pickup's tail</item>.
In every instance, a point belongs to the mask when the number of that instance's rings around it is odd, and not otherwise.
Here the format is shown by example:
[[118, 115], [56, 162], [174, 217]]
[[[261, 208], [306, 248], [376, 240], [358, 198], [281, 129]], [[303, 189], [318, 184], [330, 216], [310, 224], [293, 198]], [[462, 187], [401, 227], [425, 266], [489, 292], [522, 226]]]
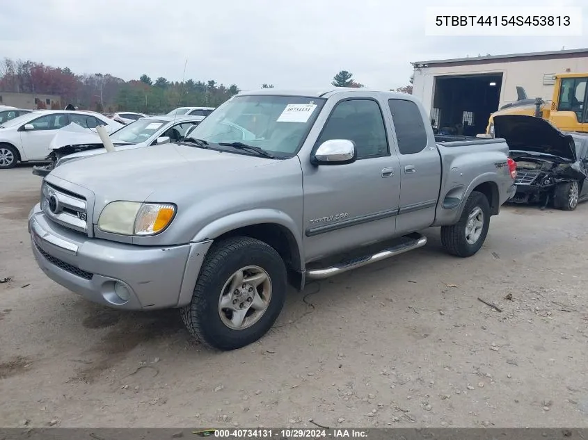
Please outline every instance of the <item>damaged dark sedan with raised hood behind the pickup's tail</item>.
[[517, 165], [516, 194], [509, 202], [573, 211], [588, 199], [587, 133], [561, 131], [527, 115], [496, 115], [494, 130]]

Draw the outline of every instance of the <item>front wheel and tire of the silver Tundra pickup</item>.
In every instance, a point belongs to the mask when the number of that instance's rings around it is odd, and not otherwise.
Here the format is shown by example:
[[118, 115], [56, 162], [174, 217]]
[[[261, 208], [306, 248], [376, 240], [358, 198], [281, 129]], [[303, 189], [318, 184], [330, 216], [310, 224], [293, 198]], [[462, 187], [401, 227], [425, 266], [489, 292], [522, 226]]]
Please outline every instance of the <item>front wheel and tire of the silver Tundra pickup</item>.
[[[237, 283], [239, 272], [244, 279]], [[255, 286], [264, 277], [267, 279]], [[235, 350], [269, 331], [282, 311], [286, 291], [286, 267], [273, 247], [255, 238], [228, 238], [212, 245], [200, 268], [192, 301], [180, 313], [190, 334], [200, 342], [219, 350]]]

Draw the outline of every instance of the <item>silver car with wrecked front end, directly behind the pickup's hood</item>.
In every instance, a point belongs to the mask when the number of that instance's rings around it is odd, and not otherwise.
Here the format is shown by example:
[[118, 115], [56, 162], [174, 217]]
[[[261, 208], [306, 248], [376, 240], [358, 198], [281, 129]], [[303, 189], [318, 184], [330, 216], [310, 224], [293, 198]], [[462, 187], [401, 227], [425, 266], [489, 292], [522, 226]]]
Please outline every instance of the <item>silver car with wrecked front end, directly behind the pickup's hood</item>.
[[[131, 124], [125, 125], [110, 135], [117, 151], [147, 147], [167, 142], [176, 142], [189, 133], [204, 119], [204, 116], [150, 116], [142, 117]], [[96, 134], [95, 142], [88, 142], [87, 136], [68, 141], [65, 145], [54, 148], [47, 157], [49, 165], [33, 167], [33, 174], [45, 177], [54, 168], [70, 161], [106, 153], [100, 136]]]

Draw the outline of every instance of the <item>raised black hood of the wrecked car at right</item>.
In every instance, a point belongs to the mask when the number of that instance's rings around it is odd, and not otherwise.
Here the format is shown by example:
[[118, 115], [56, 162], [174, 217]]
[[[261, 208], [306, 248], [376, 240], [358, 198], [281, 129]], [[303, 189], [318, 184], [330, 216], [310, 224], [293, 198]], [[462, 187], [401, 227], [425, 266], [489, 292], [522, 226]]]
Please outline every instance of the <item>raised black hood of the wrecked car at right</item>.
[[577, 160], [572, 136], [541, 117], [495, 115], [493, 120], [494, 137], [506, 140], [511, 150], [553, 154], [571, 161]]

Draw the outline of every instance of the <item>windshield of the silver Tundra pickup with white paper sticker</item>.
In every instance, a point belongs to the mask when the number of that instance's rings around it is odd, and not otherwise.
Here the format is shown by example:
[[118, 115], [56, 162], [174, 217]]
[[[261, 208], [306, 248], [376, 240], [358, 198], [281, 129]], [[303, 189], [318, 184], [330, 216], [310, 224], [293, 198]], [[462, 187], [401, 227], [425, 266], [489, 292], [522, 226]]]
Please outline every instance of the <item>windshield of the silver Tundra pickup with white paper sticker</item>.
[[216, 144], [243, 142], [276, 156], [292, 157], [324, 102], [316, 97], [237, 96], [207, 116], [188, 138]]

